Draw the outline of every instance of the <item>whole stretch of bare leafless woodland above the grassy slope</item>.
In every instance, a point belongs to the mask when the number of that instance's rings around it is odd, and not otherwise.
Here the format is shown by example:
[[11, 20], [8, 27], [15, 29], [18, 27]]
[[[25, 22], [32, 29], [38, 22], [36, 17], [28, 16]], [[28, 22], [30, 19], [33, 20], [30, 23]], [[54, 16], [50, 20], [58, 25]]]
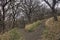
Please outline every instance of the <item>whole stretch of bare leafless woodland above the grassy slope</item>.
[[[14, 27], [24, 28], [26, 24], [54, 17], [58, 21], [57, 7], [60, 0], [0, 0], [0, 32]], [[42, 4], [45, 2], [47, 6]]]

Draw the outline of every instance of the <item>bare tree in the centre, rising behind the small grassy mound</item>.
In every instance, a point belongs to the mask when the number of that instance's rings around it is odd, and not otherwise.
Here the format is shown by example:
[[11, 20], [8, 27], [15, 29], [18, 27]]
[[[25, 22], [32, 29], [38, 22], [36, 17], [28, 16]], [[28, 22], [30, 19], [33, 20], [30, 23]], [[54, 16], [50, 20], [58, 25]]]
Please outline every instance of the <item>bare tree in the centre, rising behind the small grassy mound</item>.
[[[24, 3], [22, 3], [23, 5], [23, 9], [28, 17], [29, 22], [31, 22], [31, 15], [34, 12], [34, 9], [36, 9], [37, 7], [41, 7], [42, 5], [40, 5], [40, 2], [37, 0], [24, 0]], [[34, 13], [33, 13], [34, 14]]]

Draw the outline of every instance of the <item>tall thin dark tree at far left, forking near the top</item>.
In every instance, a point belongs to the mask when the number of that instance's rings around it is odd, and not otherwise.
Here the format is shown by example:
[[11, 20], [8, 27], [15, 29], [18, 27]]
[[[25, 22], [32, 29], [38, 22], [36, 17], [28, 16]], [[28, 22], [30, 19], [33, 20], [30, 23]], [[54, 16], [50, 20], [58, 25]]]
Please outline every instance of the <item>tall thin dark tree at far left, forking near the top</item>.
[[2, 11], [3, 11], [3, 32], [5, 29], [5, 6], [10, 2], [11, 0], [0, 0], [0, 6], [2, 7]]

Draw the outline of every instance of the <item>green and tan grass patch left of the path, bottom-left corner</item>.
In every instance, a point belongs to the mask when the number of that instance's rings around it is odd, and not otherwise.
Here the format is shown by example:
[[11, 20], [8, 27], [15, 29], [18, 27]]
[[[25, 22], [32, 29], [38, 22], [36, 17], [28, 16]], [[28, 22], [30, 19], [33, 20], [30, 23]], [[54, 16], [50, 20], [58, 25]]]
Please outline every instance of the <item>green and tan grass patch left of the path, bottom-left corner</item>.
[[24, 40], [22, 34], [17, 28], [10, 30], [9, 32], [0, 35], [0, 40]]

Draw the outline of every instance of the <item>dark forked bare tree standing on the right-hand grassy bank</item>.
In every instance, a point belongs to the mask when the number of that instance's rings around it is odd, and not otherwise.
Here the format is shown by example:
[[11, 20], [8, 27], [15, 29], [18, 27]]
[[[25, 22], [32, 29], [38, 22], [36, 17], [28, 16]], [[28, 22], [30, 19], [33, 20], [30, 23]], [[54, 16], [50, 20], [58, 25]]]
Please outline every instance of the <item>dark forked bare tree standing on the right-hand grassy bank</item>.
[[[57, 3], [57, 0], [51, 0], [52, 1], [52, 4], [50, 4], [49, 2], [48, 2], [48, 0], [44, 0], [47, 4], [48, 4], [48, 6], [51, 8], [51, 10], [52, 10], [52, 15], [54, 16], [54, 20], [55, 21], [58, 21], [58, 19], [57, 19], [57, 15], [56, 15], [56, 10], [55, 10], [55, 5], [56, 5], [56, 3]], [[52, 6], [51, 6], [52, 5]]]

